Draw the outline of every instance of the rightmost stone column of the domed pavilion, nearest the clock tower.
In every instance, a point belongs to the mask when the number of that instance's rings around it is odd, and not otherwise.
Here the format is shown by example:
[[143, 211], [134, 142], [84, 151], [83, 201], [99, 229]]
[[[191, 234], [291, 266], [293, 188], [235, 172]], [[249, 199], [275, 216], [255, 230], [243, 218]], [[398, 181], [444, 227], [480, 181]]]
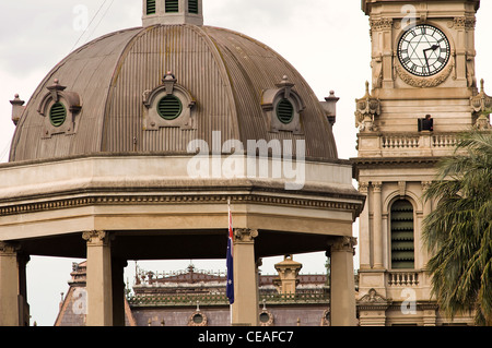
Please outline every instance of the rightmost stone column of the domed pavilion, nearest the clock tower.
[[355, 326], [355, 281], [353, 255], [356, 239], [339, 237], [330, 245], [330, 305], [332, 326]]

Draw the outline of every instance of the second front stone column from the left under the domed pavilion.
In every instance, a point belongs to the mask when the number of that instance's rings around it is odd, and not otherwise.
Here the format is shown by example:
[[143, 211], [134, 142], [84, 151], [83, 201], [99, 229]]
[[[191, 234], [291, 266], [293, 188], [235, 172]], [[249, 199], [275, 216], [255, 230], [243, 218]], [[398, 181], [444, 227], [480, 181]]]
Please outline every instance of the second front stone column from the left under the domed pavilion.
[[83, 232], [87, 241], [87, 326], [113, 326], [112, 252], [105, 231]]

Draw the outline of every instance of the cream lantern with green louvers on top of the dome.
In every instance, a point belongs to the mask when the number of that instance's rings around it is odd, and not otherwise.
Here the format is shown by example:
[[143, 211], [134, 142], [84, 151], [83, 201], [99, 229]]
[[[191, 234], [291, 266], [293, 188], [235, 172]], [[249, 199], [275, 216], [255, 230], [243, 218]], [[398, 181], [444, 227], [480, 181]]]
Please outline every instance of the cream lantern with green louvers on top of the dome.
[[202, 0], [143, 0], [143, 26], [203, 25]]

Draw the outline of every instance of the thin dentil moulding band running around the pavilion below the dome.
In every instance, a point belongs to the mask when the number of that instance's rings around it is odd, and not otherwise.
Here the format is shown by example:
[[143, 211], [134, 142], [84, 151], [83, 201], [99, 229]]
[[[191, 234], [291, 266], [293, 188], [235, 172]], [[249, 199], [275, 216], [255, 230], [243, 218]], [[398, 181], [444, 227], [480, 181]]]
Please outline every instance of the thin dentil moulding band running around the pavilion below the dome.
[[54, 200], [36, 203], [12, 204], [0, 207], [0, 215], [17, 215], [25, 213], [37, 213], [45, 211], [56, 211], [65, 208], [83, 207], [91, 205], [152, 205], [152, 204], [216, 204], [227, 203], [259, 203], [276, 204], [283, 206], [305, 206], [314, 208], [328, 208], [360, 212], [361, 204], [349, 202], [331, 202], [295, 197], [276, 197], [265, 195], [104, 195], [104, 196], [85, 196], [65, 200]]

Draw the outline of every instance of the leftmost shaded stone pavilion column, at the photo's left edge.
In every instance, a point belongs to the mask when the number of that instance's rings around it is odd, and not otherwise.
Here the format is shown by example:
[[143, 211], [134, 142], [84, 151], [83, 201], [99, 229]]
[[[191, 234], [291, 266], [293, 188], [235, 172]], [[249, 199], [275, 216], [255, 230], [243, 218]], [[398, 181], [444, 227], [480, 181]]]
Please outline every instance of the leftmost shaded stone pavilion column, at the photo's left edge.
[[19, 266], [15, 244], [0, 242], [0, 326], [19, 326]]

